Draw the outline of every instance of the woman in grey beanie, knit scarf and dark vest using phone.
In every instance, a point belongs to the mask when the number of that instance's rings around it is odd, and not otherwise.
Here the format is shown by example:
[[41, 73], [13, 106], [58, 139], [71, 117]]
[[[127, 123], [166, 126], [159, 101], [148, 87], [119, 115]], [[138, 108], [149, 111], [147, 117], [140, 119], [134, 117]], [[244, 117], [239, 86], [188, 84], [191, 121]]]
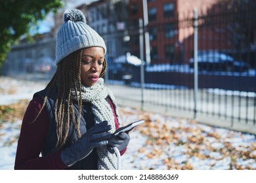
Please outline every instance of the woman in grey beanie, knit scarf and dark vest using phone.
[[[101, 78], [106, 44], [80, 10], [64, 12], [56, 39], [56, 73], [28, 105], [14, 169], [116, 169], [129, 135], [119, 128], [116, 101]], [[41, 156], [39, 156], [41, 154]]]

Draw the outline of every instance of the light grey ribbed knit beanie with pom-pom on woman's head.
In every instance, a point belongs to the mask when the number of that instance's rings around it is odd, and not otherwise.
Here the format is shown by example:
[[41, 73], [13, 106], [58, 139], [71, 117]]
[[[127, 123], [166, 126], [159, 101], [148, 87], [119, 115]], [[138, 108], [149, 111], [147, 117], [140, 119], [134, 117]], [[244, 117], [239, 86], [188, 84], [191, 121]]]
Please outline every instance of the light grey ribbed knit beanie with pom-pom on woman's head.
[[58, 63], [76, 50], [92, 46], [102, 47], [106, 54], [106, 44], [102, 37], [87, 25], [83, 12], [78, 9], [68, 9], [63, 14], [64, 23], [57, 33], [56, 60]]

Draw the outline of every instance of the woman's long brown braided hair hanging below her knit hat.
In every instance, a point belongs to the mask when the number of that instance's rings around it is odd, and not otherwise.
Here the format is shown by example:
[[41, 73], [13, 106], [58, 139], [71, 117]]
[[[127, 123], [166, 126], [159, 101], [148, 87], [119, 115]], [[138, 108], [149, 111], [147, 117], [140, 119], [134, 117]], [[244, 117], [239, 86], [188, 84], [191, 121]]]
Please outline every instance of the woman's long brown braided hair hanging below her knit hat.
[[[72, 54], [66, 56], [58, 63], [56, 73], [53, 78], [47, 84], [45, 90], [46, 95], [43, 101], [43, 107], [48, 99], [50, 91], [56, 91], [56, 101], [54, 106], [55, 113], [55, 122], [56, 122], [56, 148], [61, 148], [64, 146], [65, 142], [68, 139], [68, 131], [70, 129], [70, 122], [74, 125], [77, 138], [81, 137], [79, 130], [80, 127], [80, 117], [81, 117], [81, 108], [82, 108], [82, 99], [81, 99], [81, 56], [82, 49], [73, 52]], [[100, 77], [106, 72], [106, 59], [103, 62], [102, 72]], [[57, 87], [56, 87], [57, 86]], [[72, 90], [77, 94], [77, 105], [78, 105], [78, 116], [75, 118], [74, 110], [74, 100], [72, 100], [71, 93]], [[41, 113], [39, 111], [39, 114]], [[38, 118], [37, 114], [35, 120]], [[33, 120], [33, 122], [35, 122]]]

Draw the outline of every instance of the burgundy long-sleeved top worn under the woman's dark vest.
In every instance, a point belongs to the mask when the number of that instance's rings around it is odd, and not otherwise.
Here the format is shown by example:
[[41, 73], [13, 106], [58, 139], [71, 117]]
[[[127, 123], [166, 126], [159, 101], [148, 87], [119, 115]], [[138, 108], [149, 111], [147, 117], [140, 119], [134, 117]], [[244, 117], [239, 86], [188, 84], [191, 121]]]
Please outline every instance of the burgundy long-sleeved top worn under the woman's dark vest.
[[[51, 154], [41, 157], [41, 148], [45, 139], [47, 138], [47, 131], [49, 127], [49, 117], [47, 109], [44, 107], [41, 111], [39, 118], [35, 122], [35, 116], [37, 116], [41, 109], [43, 102], [40, 97], [35, 97], [30, 101], [28, 108], [24, 114], [22, 126], [20, 130], [20, 137], [18, 139], [18, 146], [16, 150], [16, 158], [14, 169], [67, 169], [68, 167], [62, 162], [60, 158], [61, 150], [56, 150]], [[113, 104], [110, 101], [110, 105]], [[116, 114], [115, 124], [116, 129], [119, 128]], [[33, 123], [31, 123], [33, 122]], [[121, 155], [126, 151], [121, 150]]]

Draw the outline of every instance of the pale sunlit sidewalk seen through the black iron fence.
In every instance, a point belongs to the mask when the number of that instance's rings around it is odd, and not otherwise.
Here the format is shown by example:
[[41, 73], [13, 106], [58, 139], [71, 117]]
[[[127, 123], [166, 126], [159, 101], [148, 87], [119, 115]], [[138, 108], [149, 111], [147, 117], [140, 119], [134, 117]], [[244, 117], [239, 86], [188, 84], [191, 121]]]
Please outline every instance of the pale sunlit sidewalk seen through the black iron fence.
[[[114, 92], [117, 102], [123, 106], [129, 106], [129, 107], [135, 107], [135, 108], [141, 108], [141, 95], [140, 95], [140, 88], [128, 88], [127, 86], [112, 86], [109, 85], [112, 91]], [[180, 91], [179, 98], [175, 98], [175, 96], [171, 95], [171, 91], [168, 90], [152, 90], [154, 92], [150, 92], [150, 89], [146, 89], [144, 91], [144, 105], [143, 110], [150, 111], [150, 112], [157, 112], [159, 114], [167, 115], [167, 116], [173, 116], [175, 118], [188, 118], [188, 119], [194, 119], [194, 111], [192, 110], [194, 106], [193, 97], [186, 96], [186, 93]], [[179, 91], [177, 91], [179, 92]], [[152, 95], [154, 93], [154, 95]], [[186, 98], [188, 101], [186, 101], [186, 104], [182, 105], [181, 99], [182, 95], [184, 95], [183, 98]], [[214, 93], [212, 94], [214, 95]], [[161, 97], [158, 97], [161, 96]], [[173, 96], [166, 98], [163, 100], [163, 96]], [[215, 96], [216, 98], [218, 96]], [[207, 124], [217, 127], [224, 127], [228, 129], [232, 129], [235, 131], [242, 131], [245, 133], [251, 133], [256, 135], [256, 124], [253, 124], [253, 122], [245, 122], [245, 120], [236, 120], [240, 117], [253, 119], [255, 118], [255, 107], [254, 107], [254, 99], [252, 98], [251, 101], [249, 101], [249, 107], [247, 107], [245, 104], [247, 103], [246, 98], [243, 97], [242, 99], [239, 99], [236, 96], [233, 96], [235, 103], [232, 103], [232, 96], [228, 96], [226, 101], [226, 106], [222, 106], [219, 108], [217, 103], [206, 103], [205, 101], [198, 100], [198, 111], [202, 110], [202, 112], [198, 112], [196, 114], [196, 121], [200, 122], [201, 124]], [[161, 100], [161, 101], [160, 101]], [[175, 107], [168, 107], [171, 101], [171, 106]], [[238, 108], [238, 105], [241, 105], [241, 108]], [[183, 101], [184, 103], [184, 101]], [[186, 108], [186, 110], [184, 110]], [[232, 109], [233, 108], [233, 109]], [[213, 113], [217, 113], [217, 110], [221, 111], [221, 116]], [[225, 113], [224, 111], [228, 110], [228, 116], [234, 115], [234, 120], [231, 118], [224, 118]], [[233, 111], [232, 111], [233, 110]], [[242, 113], [241, 113], [242, 111]]]

